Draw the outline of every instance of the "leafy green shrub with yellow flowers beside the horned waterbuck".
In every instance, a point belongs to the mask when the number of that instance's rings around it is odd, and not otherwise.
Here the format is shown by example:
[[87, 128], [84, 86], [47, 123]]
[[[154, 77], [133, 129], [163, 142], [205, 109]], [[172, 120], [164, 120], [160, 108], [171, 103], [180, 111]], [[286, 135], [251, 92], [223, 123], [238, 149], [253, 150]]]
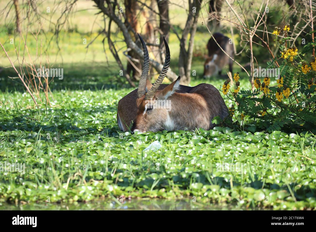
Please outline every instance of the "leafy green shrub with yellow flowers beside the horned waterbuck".
[[255, 126], [256, 130], [269, 132], [295, 132], [297, 128], [316, 128], [316, 61], [312, 56], [316, 41], [298, 51], [297, 47], [290, 45], [293, 40], [288, 37], [289, 25], [281, 31], [276, 27], [272, 33], [276, 36], [274, 41], [280, 55], [269, 61], [266, 67], [270, 70], [278, 68], [277, 76], [272, 78], [267, 72], [261, 79], [254, 77], [253, 88], [243, 90], [239, 73], [235, 73], [232, 80], [234, 90], [229, 91], [229, 79], [223, 85], [223, 94], [235, 102], [229, 108], [230, 116], [235, 119], [231, 126], [235, 129]]

